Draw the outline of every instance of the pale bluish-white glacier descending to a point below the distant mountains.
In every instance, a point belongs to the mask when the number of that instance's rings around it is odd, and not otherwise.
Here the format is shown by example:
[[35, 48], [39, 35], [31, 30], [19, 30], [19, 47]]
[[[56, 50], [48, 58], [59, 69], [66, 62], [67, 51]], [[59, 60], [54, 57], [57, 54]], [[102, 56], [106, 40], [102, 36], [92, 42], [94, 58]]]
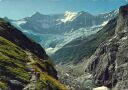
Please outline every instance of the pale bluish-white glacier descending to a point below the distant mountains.
[[17, 27], [20, 31], [26, 34], [32, 40], [41, 44], [48, 55], [52, 55], [58, 49], [62, 48], [64, 45], [68, 44], [72, 40], [77, 38], [82, 38], [89, 36], [98, 32], [108, 21], [103, 22], [101, 25], [92, 26], [88, 28], [80, 28], [78, 30], [71, 30], [70, 32], [65, 32], [62, 34], [40, 34], [32, 30], [25, 30], [20, 27], [20, 24], [26, 23], [26, 21], [12, 21], [11, 24]]

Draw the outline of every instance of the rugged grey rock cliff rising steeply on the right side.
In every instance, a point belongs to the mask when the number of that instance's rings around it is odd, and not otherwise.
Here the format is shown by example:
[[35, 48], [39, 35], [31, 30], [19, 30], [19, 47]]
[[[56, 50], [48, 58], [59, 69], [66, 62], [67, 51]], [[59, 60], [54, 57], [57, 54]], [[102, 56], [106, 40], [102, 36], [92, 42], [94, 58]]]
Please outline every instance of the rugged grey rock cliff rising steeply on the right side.
[[128, 89], [128, 5], [119, 9], [115, 34], [99, 46], [88, 62], [86, 71], [93, 75], [97, 86]]

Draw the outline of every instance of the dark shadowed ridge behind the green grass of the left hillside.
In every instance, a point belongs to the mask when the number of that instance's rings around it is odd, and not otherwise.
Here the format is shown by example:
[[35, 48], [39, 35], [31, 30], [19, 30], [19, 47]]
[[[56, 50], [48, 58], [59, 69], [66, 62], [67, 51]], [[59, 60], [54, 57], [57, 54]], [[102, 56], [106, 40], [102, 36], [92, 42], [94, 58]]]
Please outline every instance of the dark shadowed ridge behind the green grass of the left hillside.
[[[18, 31], [10, 23], [2, 22], [2, 24], [0, 24], [0, 27], [1, 27], [0, 36], [10, 40], [11, 42], [20, 46], [24, 50], [30, 50], [31, 52], [33, 52], [42, 59], [48, 58], [44, 49], [39, 44], [28, 39], [21, 31]], [[46, 57], [41, 57], [41, 56], [46, 56]]]

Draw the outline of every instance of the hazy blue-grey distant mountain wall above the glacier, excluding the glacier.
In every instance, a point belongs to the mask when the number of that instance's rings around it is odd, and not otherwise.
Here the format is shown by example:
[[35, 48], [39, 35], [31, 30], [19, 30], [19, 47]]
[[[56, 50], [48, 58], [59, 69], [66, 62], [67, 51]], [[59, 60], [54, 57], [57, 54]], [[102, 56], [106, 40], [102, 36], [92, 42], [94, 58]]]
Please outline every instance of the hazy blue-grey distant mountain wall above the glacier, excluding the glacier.
[[18, 20], [17, 23], [27, 30], [32, 30], [39, 33], [63, 33], [79, 28], [92, 27], [100, 25], [117, 15], [117, 11], [112, 11], [106, 14], [97, 16], [91, 15], [88, 12], [68, 12], [56, 15], [43, 15], [39, 12], [32, 16]]

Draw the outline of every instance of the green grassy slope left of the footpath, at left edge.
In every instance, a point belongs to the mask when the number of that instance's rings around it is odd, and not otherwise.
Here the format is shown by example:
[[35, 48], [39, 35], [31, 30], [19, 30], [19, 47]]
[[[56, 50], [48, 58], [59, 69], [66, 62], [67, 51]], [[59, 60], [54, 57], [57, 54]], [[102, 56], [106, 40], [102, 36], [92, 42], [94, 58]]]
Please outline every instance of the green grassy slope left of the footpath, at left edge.
[[[1, 80], [1, 85], [9, 84], [10, 80], [18, 80], [24, 84], [28, 83], [30, 75], [25, 67], [27, 61], [27, 55], [23, 50], [0, 37], [0, 77], [6, 78], [6, 80]], [[0, 87], [2, 87], [1, 85]]]

